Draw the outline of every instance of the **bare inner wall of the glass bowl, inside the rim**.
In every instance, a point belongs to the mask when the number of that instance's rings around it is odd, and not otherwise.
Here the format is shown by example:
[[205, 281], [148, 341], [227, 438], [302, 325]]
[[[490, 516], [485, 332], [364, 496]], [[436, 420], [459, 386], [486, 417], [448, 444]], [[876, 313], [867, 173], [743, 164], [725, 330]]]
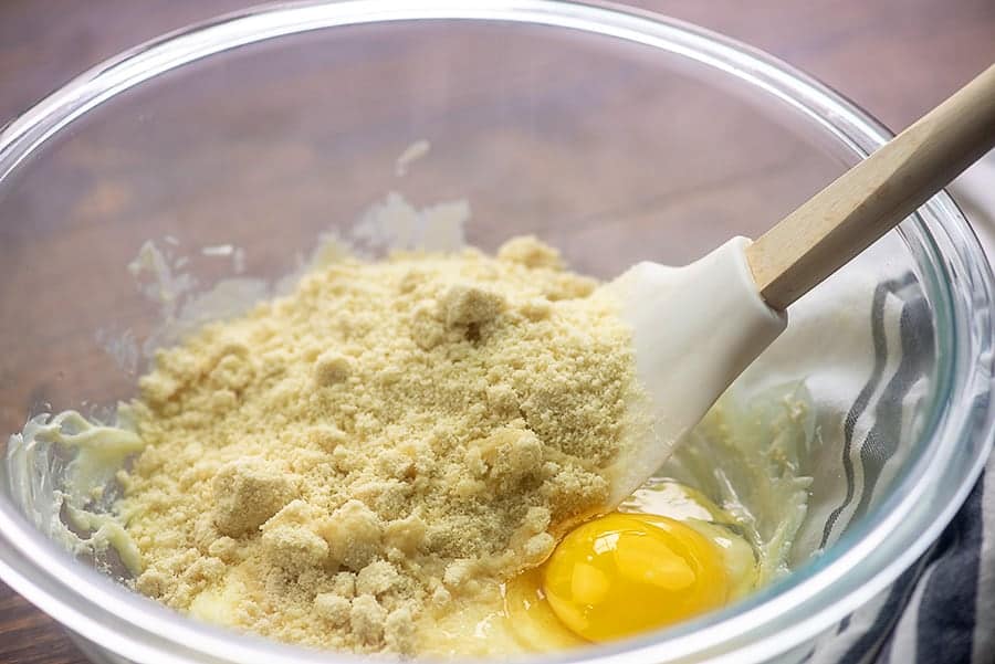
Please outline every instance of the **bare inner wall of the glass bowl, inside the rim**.
[[[399, 175], [421, 140], [429, 151]], [[401, 21], [220, 52], [117, 92], [0, 181], [0, 429], [66, 408], [106, 414], [135, 394], [164, 316], [220, 280], [293, 272], [322, 233], [355, 236], [390, 191], [418, 208], [467, 201], [469, 244], [534, 233], [610, 278], [757, 236], [858, 158], [824, 122], [714, 63], [572, 29]], [[136, 280], [147, 241], [166, 272]], [[919, 310], [914, 348], [883, 319], [897, 363], [863, 404], [901, 461], [925, 444], [939, 398], [931, 297], [897, 233], [851, 270], [863, 268], [904, 280], [883, 297]], [[883, 281], [863, 285], [869, 297]], [[903, 350], [917, 360], [898, 376]], [[841, 446], [847, 408], [832, 413], [810, 463], [841, 467], [856, 452]], [[857, 516], [904, 472], [879, 473]], [[799, 562], [825, 544], [811, 537]]]

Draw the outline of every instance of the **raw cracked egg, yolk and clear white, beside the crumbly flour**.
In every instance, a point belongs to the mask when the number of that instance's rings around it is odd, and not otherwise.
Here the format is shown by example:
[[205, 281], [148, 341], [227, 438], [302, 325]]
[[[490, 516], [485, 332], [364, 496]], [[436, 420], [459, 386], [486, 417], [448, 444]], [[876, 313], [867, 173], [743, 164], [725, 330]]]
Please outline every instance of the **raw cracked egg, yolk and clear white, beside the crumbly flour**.
[[650, 491], [635, 505], [657, 514], [591, 519], [542, 567], [507, 583], [505, 611], [524, 647], [632, 636], [719, 609], [753, 588], [756, 557], [729, 515], [673, 482]]

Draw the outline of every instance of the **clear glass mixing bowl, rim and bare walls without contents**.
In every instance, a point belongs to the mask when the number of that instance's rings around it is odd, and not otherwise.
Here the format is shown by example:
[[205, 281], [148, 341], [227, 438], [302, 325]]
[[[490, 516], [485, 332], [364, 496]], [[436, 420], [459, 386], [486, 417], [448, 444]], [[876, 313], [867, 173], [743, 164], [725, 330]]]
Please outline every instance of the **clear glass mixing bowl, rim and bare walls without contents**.
[[[161, 341], [157, 326], [192, 284], [287, 274], [321, 233], [348, 232], [390, 190], [418, 205], [469, 201], [471, 244], [536, 233], [576, 270], [610, 277], [758, 235], [889, 136], [784, 63], [659, 15], [546, 0], [412, 4], [222, 17], [86, 72], [0, 134], [0, 429], [132, 397], [142, 344]], [[420, 139], [429, 154], [400, 177], [397, 156]], [[127, 272], [147, 240], [172, 252], [156, 304]], [[939, 536], [989, 451], [992, 275], [945, 194], [871, 260], [904, 275], [920, 303], [899, 330], [917, 345], [891, 381], [914, 382], [921, 398], [903, 415], [912, 424], [882, 430], [902, 462], [859, 518], [746, 601], [552, 658], [797, 661]], [[857, 401], [882, 422], [901, 415], [887, 389]], [[34, 526], [39, 492], [52, 487], [32, 473], [57, 460], [28, 466], [14, 447], [0, 476], [0, 577], [94, 658], [350, 658], [184, 619], [74, 560]]]

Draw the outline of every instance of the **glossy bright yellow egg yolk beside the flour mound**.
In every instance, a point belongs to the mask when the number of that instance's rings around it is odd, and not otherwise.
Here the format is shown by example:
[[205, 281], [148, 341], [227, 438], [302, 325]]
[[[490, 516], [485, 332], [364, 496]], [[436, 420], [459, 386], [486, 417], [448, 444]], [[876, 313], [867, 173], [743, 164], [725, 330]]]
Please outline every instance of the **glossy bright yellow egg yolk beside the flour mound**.
[[721, 554], [684, 524], [610, 514], [567, 535], [545, 565], [543, 591], [556, 616], [588, 641], [662, 628], [723, 605]]

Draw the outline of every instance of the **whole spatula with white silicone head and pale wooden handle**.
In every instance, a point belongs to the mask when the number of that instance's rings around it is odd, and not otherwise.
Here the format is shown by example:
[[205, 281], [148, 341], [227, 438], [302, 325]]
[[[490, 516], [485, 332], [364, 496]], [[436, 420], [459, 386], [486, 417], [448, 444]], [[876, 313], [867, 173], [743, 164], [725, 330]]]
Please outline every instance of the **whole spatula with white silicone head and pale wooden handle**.
[[[667, 460], [781, 334], [785, 309], [995, 147], [995, 65], [756, 242], [735, 238], [684, 267], [618, 280], [654, 429], [619, 460], [611, 504]], [[992, 183], [995, 188], [995, 182]]]

